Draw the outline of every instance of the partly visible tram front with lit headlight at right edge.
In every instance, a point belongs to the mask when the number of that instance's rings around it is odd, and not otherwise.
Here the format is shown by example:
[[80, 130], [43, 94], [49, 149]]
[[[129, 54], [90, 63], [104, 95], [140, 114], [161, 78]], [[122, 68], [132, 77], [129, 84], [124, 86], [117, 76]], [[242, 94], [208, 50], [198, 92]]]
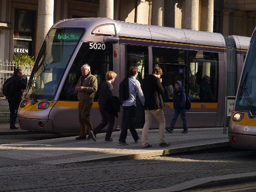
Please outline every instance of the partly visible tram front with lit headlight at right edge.
[[[252, 34], [229, 124], [232, 147], [255, 150], [256, 142], [256, 31]], [[253, 83], [254, 82], [254, 83]]]

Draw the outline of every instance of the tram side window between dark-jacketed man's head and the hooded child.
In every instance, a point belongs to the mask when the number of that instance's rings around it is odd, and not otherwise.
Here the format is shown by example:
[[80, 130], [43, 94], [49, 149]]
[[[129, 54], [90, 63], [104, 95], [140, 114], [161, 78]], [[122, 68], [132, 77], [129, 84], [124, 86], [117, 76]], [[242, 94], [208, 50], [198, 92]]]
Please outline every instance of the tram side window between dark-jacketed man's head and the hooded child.
[[186, 90], [186, 73], [187, 67], [184, 62], [185, 50], [152, 48], [153, 65], [159, 66], [163, 70], [162, 85], [164, 87], [164, 101], [173, 99], [174, 82], [179, 80], [182, 82], [184, 90]]

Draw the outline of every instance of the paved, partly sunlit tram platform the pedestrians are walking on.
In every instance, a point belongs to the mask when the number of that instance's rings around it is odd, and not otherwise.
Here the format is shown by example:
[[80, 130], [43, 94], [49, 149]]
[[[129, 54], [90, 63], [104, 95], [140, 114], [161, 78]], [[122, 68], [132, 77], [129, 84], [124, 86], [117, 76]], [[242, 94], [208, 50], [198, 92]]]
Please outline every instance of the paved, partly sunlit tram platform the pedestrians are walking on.
[[[138, 134], [141, 137], [141, 129]], [[0, 145], [0, 157], [17, 160], [28, 160], [47, 165], [75, 163], [80, 161], [138, 159], [180, 152], [210, 149], [227, 146], [228, 137], [223, 135], [223, 128], [194, 128], [188, 134], [181, 134], [182, 129], [175, 129], [173, 134], [166, 133], [168, 147], [160, 147], [159, 130], [150, 130], [149, 141], [153, 147], [143, 149], [141, 140], [134, 143], [130, 133], [126, 141], [129, 146], [118, 144], [120, 131], [113, 132], [111, 143], [105, 143], [105, 134], [98, 134], [97, 141], [75, 140], [75, 137], [47, 139], [23, 143]]]

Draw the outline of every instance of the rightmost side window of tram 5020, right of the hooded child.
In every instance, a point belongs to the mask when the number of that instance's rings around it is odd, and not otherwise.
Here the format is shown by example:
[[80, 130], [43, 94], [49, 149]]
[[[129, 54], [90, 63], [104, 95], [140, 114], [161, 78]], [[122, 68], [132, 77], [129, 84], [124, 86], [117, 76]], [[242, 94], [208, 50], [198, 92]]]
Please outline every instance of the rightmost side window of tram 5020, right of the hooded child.
[[189, 95], [193, 101], [218, 99], [218, 53], [189, 51]]

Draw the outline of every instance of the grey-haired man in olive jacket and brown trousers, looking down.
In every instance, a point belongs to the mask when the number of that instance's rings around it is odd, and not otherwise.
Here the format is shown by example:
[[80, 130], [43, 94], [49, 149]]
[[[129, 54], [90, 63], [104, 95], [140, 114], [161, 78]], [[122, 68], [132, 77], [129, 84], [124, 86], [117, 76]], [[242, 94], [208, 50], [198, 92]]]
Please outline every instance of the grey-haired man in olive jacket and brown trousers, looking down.
[[86, 139], [86, 135], [89, 134], [89, 137], [96, 141], [96, 137], [92, 131], [93, 127], [90, 120], [90, 113], [93, 99], [97, 91], [97, 79], [95, 76], [91, 75], [91, 68], [88, 64], [84, 64], [81, 67], [81, 72], [82, 75], [75, 87], [79, 100], [78, 111], [80, 123], [80, 136], [76, 139]]

